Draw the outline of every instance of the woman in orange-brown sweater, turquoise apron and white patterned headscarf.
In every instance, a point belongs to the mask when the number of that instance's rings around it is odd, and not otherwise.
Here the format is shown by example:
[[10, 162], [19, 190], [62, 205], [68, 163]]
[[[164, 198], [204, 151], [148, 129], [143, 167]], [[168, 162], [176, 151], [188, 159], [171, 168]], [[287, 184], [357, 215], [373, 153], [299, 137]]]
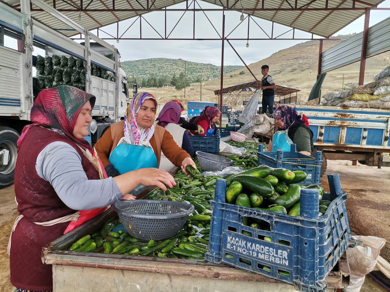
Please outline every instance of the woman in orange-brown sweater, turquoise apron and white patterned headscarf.
[[161, 151], [185, 172], [186, 165], [195, 166], [190, 155], [177, 146], [172, 135], [156, 125], [157, 101], [147, 92], [137, 93], [124, 121], [111, 125], [96, 142], [95, 149], [108, 176], [145, 167], [158, 168]]

